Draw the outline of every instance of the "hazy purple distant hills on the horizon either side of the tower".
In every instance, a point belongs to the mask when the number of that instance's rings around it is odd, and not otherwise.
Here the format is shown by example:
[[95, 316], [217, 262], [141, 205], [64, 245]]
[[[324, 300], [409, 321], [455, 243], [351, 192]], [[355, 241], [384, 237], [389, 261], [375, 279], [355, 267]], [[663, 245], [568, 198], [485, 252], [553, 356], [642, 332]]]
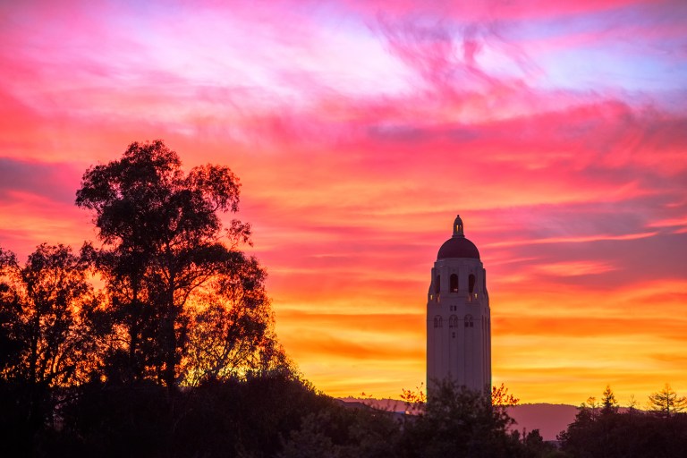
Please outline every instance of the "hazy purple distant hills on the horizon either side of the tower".
[[[397, 399], [365, 399], [344, 397], [344, 403], [363, 403], [385, 411], [404, 411], [405, 404]], [[568, 428], [575, 420], [577, 407], [566, 404], [522, 404], [508, 409], [508, 414], [517, 422], [514, 428], [522, 432], [539, 429], [544, 440], [556, 440], [556, 435]]]

